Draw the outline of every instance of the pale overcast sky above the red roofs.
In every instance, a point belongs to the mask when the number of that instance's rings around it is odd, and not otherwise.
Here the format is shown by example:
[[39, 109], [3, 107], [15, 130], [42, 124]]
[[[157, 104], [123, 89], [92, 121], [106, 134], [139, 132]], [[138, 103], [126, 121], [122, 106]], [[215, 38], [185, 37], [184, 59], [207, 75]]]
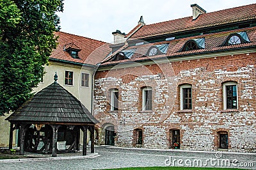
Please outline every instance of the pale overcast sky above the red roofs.
[[65, 0], [58, 16], [61, 31], [111, 43], [112, 32], [129, 33], [140, 16], [145, 24], [154, 24], [192, 16], [191, 4], [216, 12], [253, 3], [256, 0]]

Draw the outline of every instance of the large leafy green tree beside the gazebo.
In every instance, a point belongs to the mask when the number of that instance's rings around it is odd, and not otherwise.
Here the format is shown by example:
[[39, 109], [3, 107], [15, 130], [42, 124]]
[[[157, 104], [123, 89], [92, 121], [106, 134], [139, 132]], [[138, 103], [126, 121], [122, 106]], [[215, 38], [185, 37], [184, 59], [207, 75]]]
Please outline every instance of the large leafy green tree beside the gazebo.
[[15, 111], [44, 75], [63, 0], [0, 0], [0, 115]]

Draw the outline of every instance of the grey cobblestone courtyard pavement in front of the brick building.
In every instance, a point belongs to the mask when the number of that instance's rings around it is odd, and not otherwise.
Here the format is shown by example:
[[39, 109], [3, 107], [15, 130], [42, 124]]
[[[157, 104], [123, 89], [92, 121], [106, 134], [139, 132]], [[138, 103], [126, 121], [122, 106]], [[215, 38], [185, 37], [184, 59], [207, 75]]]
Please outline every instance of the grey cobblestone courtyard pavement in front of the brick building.
[[[59, 158], [20, 162], [1, 162], [0, 169], [109, 169], [149, 166], [205, 166], [256, 169], [256, 153], [145, 150], [134, 148], [95, 147], [99, 155], [81, 157], [80, 153], [58, 155]], [[57, 158], [58, 158], [57, 157]]]

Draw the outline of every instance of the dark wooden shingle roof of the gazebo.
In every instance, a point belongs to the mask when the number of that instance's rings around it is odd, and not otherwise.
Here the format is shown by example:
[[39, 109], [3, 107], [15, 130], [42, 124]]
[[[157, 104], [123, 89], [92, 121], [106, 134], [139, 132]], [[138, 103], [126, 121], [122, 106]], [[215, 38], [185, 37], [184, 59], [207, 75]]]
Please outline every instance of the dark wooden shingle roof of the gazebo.
[[57, 82], [36, 93], [6, 120], [49, 123], [98, 123], [88, 109]]

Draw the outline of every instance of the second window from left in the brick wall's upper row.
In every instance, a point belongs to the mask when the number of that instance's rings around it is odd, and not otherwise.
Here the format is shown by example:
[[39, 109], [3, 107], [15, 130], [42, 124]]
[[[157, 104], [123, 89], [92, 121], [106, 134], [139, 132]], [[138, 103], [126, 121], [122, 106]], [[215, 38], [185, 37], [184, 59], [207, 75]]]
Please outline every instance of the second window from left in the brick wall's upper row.
[[142, 110], [152, 110], [152, 88], [150, 87], [142, 89]]

